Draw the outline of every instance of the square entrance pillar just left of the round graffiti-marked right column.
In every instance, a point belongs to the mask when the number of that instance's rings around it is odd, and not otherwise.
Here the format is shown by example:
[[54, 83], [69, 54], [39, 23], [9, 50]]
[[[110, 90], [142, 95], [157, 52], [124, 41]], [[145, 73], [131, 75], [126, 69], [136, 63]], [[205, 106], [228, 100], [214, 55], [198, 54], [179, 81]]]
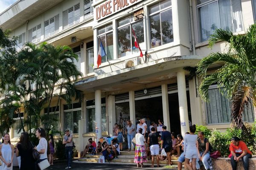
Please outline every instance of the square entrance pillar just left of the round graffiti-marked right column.
[[168, 100], [168, 87], [167, 85], [161, 85], [162, 88], [162, 103], [163, 103], [163, 121], [167, 130], [171, 131], [170, 113], [169, 113], [169, 100]]

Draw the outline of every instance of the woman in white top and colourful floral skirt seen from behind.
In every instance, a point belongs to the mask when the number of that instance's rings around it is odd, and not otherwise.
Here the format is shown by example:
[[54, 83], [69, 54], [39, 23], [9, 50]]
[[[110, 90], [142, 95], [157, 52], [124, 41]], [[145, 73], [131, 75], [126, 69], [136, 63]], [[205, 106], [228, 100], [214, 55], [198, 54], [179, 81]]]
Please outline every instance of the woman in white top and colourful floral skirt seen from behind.
[[[145, 137], [142, 135], [142, 128], [138, 130], [135, 135], [136, 147], [135, 147], [135, 158], [134, 162], [137, 163], [137, 167], [144, 167], [143, 162], [147, 162], [147, 154], [145, 150]], [[141, 163], [141, 165], [140, 165]]]

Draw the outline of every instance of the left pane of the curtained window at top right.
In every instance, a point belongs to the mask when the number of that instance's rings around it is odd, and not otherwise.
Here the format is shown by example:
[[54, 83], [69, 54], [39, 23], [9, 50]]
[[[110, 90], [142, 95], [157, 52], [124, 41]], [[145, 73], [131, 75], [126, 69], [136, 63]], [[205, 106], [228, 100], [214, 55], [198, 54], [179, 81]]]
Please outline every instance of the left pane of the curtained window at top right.
[[198, 8], [198, 15], [200, 18], [201, 41], [207, 41], [213, 31], [220, 28], [218, 3], [210, 3]]

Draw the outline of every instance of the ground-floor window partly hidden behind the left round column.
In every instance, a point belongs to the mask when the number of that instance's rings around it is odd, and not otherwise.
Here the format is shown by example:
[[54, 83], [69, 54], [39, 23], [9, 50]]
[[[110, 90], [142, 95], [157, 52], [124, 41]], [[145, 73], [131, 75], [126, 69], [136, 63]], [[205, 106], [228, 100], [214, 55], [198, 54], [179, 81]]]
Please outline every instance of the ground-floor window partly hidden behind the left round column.
[[[107, 131], [106, 100], [102, 98], [102, 132]], [[95, 132], [95, 100], [86, 101], [87, 132]]]

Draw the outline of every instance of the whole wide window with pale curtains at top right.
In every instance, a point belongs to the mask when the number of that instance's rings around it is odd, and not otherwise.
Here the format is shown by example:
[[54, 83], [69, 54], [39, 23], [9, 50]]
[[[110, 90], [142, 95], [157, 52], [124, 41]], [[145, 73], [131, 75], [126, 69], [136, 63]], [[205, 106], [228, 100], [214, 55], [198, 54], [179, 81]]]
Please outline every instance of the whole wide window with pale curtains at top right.
[[207, 41], [216, 28], [243, 30], [241, 0], [197, 0], [201, 42]]

